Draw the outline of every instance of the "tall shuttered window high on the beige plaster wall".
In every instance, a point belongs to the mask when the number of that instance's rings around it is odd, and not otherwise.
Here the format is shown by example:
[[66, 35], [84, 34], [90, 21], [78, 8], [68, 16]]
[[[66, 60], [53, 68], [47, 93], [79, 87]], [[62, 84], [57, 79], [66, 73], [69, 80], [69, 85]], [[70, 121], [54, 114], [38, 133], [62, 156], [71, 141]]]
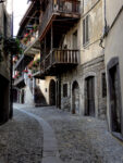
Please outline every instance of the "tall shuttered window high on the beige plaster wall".
[[89, 41], [89, 15], [83, 20], [83, 45]]

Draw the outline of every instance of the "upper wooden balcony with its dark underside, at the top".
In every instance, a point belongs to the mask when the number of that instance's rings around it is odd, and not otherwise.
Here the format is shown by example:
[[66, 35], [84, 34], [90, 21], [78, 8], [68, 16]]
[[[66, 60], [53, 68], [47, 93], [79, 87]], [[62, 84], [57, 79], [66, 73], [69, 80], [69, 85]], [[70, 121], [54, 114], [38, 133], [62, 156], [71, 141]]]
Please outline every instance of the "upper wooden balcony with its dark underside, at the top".
[[56, 0], [56, 1], [50, 0], [46, 11], [41, 15], [39, 26], [40, 40], [46, 35], [47, 30], [50, 28], [53, 21], [56, 22], [53, 23], [53, 27], [56, 28], [58, 28], [56, 25], [61, 26], [65, 30], [67, 30], [67, 27], [69, 28], [72, 27], [76, 23], [76, 21], [81, 17], [79, 7], [81, 2], [78, 0]]

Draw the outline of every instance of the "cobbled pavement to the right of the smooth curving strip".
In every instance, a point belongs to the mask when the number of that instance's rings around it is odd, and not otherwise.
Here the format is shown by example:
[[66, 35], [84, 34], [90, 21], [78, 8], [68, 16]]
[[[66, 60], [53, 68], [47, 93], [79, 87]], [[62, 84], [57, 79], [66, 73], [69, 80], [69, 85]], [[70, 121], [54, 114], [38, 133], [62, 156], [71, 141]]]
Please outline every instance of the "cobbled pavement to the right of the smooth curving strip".
[[64, 163], [123, 163], [123, 143], [111, 136], [107, 122], [72, 115], [53, 106], [15, 104], [15, 108], [49, 123], [54, 130], [60, 159]]

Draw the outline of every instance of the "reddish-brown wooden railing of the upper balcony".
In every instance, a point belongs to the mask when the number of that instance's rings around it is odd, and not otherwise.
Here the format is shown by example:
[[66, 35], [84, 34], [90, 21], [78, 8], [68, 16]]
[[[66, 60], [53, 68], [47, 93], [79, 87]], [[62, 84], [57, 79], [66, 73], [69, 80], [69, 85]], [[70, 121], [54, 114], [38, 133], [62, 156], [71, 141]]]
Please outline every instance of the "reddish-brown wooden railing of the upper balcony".
[[79, 14], [81, 13], [79, 7], [81, 2], [78, 0], [76, 1], [50, 0], [40, 21], [39, 36], [42, 35], [46, 26], [50, 22], [53, 14], [58, 13]]

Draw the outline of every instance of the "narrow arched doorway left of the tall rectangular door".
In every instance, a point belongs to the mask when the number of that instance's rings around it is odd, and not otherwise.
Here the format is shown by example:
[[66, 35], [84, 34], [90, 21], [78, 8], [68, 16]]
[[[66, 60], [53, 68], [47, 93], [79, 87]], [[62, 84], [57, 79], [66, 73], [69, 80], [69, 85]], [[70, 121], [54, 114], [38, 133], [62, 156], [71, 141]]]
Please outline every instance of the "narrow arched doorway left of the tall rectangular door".
[[79, 86], [77, 82], [74, 82], [72, 86], [72, 113], [79, 113]]

